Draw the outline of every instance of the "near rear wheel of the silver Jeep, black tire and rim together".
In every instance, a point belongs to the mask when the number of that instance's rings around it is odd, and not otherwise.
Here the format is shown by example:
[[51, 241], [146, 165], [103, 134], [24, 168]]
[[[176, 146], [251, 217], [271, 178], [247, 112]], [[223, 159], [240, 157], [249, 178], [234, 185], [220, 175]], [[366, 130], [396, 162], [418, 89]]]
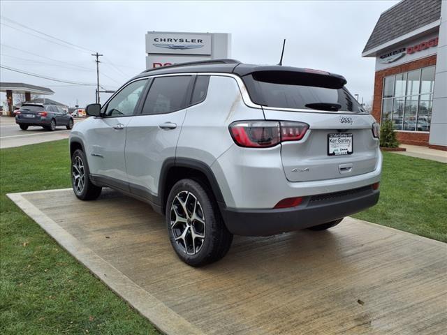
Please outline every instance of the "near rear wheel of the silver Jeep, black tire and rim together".
[[[193, 206], [194, 199], [196, 204]], [[179, 200], [185, 200], [184, 207]], [[186, 215], [183, 208], [188, 211]], [[193, 208], [195, 212], [191, 211]], [[175, 220], [175, 210], [180, 220], [184, 219], [188, 223]], [[175, 221], [173, 225], [172, 221]], [[175, 253], [191, 267], [201, 267], [220, 260], [233, 241], [233, 234], [223, 223], [214, 195], [205, 184], [193, 179], [179, 180], [171, 188], [166, 202], [166, 226]], [[196, 237], [193, 238], [193, 234]], [[176, 237], [179, 238], [177, 241]]]

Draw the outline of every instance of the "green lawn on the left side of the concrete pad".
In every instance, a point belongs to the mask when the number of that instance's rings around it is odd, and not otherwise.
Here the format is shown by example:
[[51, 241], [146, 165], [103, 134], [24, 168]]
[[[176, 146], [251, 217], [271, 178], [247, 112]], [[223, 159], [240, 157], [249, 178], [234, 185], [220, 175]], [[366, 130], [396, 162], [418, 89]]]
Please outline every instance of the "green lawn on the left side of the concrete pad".
[[0, 150], [0, 334], [159, 334], [6, 193], [70, 187], [68, 142]]

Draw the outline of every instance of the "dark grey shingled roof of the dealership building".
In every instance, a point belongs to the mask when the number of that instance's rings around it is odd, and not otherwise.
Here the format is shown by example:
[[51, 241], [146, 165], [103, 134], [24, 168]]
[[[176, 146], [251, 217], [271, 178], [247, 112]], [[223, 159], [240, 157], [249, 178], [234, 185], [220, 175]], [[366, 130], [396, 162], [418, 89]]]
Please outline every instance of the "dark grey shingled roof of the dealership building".
[[441, 0], [402, 0], [383, 12], [363, 52], [430, 24], [441, 17]]

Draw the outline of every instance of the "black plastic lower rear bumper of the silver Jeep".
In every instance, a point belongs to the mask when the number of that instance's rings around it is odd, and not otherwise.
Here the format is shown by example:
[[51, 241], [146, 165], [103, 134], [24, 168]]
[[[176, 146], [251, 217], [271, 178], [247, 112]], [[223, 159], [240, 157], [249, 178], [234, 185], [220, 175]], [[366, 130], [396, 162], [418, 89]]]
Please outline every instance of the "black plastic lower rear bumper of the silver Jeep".
[[379, 190], [365, 186], [305, 198], [287, 209], [221, 208], [230, 232], [244, 236], [268, 236], [321, 225], [362, 211], [379, 201]]

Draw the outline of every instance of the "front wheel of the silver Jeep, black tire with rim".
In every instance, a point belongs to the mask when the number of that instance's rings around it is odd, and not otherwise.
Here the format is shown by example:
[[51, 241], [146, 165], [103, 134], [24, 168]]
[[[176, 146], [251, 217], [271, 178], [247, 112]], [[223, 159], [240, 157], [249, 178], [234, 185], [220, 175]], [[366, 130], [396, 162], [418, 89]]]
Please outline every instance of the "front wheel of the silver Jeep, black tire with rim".
[[[82, 163], [82, 168], [78, 164]], [[77, 168], [76, 168], [77, 166]], [[75, 174], [81, 174], [82, 176], [76, 178]], [[87, 158], [82, 150], [78, 149], [71, 156], [71, 186], [76, 197], [80, 200], [95, 200], [101, 195], [102, 187], [95, 186], [89, 178], [90, 170], [87, 164]], [[82, 186], [80, 182], [82, 181]]]

